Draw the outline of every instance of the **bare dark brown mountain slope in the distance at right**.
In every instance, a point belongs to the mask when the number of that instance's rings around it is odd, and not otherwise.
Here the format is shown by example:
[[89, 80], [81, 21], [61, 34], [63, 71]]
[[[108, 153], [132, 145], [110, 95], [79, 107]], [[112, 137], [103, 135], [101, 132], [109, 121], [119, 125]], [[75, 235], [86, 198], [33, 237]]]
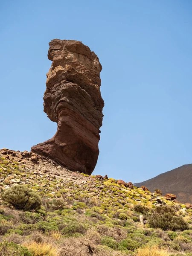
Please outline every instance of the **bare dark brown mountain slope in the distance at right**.
[[177, 195], [177, 200], [182, 203], [192, 204], [192, 164], [180, 166], [134, 185], [146, 186], [151, 192], [158, 188], [163, 194]]

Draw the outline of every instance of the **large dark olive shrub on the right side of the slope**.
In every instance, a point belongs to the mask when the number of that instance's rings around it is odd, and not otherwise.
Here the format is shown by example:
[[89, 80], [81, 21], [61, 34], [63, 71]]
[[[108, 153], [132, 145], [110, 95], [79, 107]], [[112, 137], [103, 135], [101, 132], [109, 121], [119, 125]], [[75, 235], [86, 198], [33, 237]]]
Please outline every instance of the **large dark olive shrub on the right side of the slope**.
[[169, 206], [156, 207], [152, 209], [148, 217], [148, 224], [153, 228], [162, 230], [186, 230], [189, 225], [184, 219], [175, 214], [175, 211]]

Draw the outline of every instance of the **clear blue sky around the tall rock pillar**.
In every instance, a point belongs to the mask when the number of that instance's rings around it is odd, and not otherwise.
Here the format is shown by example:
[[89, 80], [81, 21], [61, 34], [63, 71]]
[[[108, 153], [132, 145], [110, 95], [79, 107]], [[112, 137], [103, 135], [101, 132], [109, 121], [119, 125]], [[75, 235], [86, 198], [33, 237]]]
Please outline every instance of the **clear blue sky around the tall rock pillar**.
[[0, 148], [51, 138], [43, 112], [48, 43], [82, 41], [102, 64], [94, 174], [140, 182], [192, 163], [192, 1], [0, 3]]

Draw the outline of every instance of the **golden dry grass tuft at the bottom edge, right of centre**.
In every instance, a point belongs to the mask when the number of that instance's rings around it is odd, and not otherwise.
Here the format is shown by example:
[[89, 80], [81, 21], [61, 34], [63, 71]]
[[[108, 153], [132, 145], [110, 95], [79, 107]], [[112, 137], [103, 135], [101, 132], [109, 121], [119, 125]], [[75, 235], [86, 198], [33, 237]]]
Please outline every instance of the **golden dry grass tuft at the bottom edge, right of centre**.
[[168, 256], [169, 253], [166, 250], [159, 249], [158, 246], [144, 247], [137, 250], [136, 256]]

